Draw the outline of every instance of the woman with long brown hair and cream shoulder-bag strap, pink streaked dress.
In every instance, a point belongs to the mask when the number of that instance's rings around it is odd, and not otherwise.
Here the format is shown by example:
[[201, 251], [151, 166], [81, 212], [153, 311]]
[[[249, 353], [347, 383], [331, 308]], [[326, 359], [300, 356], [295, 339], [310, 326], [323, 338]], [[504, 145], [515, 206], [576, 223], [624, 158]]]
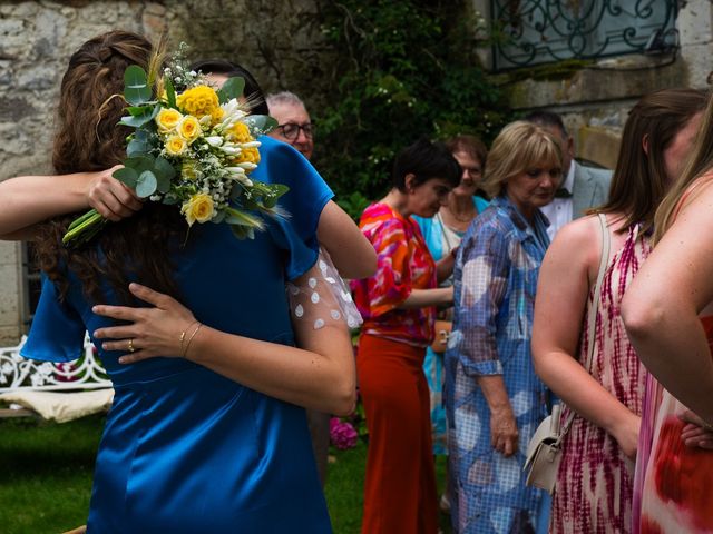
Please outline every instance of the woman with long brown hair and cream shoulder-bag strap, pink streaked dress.
[[535, 368], [566, 404], [563, 424], [575, 411], [564, 439], [550, 532], [631, 532], [645, 372], [627, 340], [619, 304], [648, 256], [654, 212], [678, 175], [704, 106], [701, 91], [666, 89], [644, 97], [629, 112], [609, 200], [595, 210], [606, 217], [612, 254], [594, 339], [588, 339], [586, 317], [602, 251], [598, 217], [563, 228], [540, 268], [533, 327]]

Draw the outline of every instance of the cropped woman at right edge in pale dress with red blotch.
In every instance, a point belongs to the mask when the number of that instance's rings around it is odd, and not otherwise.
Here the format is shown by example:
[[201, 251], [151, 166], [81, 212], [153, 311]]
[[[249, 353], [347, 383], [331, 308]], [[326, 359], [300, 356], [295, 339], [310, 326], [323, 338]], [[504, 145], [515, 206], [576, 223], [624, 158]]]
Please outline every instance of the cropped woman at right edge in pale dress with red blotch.
[[712, 204], [713, 100], [691, 161], [656, 212], [656, 248], [622, 305], [653, 375], [639, 442], [649, 454], [636, 463], [642, 534], [713, 533]]

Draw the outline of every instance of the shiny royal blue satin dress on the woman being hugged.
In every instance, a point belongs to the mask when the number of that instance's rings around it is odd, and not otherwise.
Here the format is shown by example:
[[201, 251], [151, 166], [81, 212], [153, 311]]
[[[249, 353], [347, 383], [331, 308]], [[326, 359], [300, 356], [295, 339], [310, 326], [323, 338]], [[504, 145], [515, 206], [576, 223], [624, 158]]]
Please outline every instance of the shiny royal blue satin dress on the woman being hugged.
[[[319, 216], [332, 192], [293, 148], [261, 141], [253, 177], [291, 187], [281, 204], [292, 217], [271, 221], [254, 240], [236, 239], [227, 225], [194, 225], [175, 256], [175, 279], [199, 322], [293, 345], [285, 279], [314, 263]], [[85, 329], [110, 324], [91, 313], [74, 276], [65, 305], [45, 283], [22, 355], [75, 359]], [[116, 394], [89, 533], [331, 532], [303, 408], [185, 359], [119, 365], [123, 353], [96, 346]]]

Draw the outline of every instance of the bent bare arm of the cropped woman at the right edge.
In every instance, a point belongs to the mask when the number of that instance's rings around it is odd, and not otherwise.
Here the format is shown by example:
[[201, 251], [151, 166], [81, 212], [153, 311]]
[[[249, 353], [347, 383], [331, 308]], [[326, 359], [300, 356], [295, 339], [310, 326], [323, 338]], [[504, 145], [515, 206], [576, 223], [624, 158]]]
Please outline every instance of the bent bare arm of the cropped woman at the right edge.
[[707, 423], [713, 423], [713, 359], [699, 315], [713, 301], [711, 228], [713, 186], [707, 184], [681, 210], [622, 304], [644, 365]]

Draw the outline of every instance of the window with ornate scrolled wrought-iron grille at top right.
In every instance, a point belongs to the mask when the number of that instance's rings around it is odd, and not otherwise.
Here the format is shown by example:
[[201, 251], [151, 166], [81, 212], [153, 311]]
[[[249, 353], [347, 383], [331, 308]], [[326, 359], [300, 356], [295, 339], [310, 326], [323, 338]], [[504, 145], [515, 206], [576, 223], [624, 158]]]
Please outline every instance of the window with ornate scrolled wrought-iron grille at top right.
[[491, 0], [490, 12], [496, 70], [677, 47], [677, 0]]

